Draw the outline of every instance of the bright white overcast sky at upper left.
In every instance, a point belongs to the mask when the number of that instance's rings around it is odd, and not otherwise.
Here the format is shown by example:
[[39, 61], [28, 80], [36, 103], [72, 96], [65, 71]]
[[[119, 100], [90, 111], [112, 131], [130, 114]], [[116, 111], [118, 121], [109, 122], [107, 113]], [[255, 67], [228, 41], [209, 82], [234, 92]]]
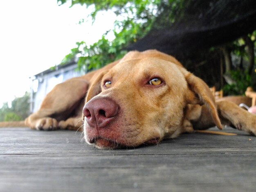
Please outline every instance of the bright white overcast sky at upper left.
[[0, 2], [0, 106], [29, 91], [29, 77], [61, 63], [76, 42], [90, 45], [112, 29], [113, 13], [79, 25], [92, 8], [69, 6], [57, 0]]

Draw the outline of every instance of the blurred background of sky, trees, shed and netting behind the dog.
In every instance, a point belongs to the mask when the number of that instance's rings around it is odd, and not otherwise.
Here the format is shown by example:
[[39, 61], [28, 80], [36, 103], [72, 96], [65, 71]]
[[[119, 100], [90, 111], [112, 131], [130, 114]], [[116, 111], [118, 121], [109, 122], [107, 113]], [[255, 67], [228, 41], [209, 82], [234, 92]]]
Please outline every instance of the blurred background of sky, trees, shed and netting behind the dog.
[[254, 0], [25, 0], [0, 5], [0, 121], [129, 50], [175, 56], [224, 96], [256, 90]]

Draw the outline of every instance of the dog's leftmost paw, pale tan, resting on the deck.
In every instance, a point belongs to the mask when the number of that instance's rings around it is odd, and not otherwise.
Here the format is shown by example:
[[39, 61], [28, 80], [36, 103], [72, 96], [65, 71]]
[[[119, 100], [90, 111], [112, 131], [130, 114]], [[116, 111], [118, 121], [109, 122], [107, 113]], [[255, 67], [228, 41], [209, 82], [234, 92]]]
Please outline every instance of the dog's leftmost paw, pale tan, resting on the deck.
[[36, 129], [46, 131], [56, 130], [58, 129], [58, 121], [50, 117], [41, 118], [36, 123]]

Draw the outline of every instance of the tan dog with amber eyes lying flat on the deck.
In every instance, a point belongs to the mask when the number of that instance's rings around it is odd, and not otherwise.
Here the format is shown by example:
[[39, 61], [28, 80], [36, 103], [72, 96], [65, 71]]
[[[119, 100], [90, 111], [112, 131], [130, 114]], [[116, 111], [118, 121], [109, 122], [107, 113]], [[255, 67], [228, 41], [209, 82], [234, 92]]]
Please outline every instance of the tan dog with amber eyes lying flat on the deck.
[[156, 144], [222, 124], [256, 134], [256, 115], [228, 101], [215, 103], [200, 78], [155, 50], [131, 51], [56, 85], [25, 122], [43, 130], [83, 127], [87, 143], [103, 149]]

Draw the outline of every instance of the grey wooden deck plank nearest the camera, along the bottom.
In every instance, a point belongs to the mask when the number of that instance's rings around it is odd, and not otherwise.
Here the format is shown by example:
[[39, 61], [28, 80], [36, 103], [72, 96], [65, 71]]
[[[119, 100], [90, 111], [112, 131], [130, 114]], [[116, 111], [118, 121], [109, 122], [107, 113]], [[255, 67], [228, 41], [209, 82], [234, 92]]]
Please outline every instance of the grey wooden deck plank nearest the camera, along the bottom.
[[197, 155], [157, 155], [148, 158], [94, 156], [86, 160], [83, 157], [31, 158], [20, 165], [13, 166], [10, 163], [8, 167], [1, 168], [0, 186], [8, 191], [20, 190], [20, 185], [25, 185], [31, 191], [38, 188], [62, 191], [117, 191], [121, 188], [136, 188], [139, 191], [208, 191], [211, 188], [219, 190], [220, 186], [231, 191], [254, 189], [255, 166], [250, 165], [255, 155], [225, 154], [214, 157], [221, 163], [217, 163], [212, 156]]

